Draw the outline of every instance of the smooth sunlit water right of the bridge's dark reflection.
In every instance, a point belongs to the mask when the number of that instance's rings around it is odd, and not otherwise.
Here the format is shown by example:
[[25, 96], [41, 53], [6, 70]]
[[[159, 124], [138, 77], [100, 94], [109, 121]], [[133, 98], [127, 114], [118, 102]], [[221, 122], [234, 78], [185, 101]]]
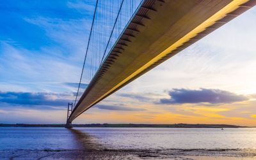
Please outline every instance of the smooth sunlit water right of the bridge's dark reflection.
[[76, 129], [108, 149], [256, 149], [256, 128]]

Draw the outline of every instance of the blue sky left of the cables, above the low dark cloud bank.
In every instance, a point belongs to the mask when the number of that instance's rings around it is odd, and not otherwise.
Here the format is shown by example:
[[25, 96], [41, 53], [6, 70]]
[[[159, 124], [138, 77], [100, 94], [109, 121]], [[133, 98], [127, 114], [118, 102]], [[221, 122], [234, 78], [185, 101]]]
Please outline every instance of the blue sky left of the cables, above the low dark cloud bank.
[[92, 13], [75, 4], [1, 1], [1, 82], [26, 84], [28, 91], [60, 91], [61, 83], [77, 81]]

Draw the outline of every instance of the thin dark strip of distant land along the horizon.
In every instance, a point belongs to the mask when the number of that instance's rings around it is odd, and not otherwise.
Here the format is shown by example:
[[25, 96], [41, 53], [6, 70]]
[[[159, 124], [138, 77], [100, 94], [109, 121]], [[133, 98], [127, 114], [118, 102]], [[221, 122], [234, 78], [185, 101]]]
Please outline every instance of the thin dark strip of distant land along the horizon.
[[[73, 127], [238, 128], [229, 124], [72, 124]], [[0, 127], [65, 127], [65, 124], [0, 124]]]

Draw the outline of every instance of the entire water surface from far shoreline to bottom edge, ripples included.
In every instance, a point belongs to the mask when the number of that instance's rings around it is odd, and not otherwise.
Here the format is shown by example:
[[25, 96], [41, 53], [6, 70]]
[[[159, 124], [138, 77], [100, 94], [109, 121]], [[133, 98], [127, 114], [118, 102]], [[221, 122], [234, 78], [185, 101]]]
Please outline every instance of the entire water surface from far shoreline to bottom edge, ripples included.
[[0, 159], [256, 159], [255, 137], [255, 128], [1, 127]]

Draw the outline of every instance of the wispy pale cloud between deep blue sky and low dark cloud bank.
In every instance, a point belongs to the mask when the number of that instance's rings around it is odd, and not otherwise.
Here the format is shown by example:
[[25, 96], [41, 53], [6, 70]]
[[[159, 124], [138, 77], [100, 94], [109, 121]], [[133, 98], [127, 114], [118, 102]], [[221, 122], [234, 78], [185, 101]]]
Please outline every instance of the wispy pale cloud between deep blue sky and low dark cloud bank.
[[[80, 67], [67, 63], [61, 58], [52, 57], [44, 51], [17, 48], [2, 41], [0, 41], [0, 51], [3, 54], [0, 56], [0, 75], [5, 75], [1, 77], [1, 83], [16, 84], [8, 88], [1, 87], [2, 91], [63, 92], [62, 83], [74, 82], [81, 74]], [[54, 52], [53, 48], [52, 52]], [[20, 86], [23, 89], [19, 89]], [[70, 87], [66, 87], [65, 91], [70, 91]]]

